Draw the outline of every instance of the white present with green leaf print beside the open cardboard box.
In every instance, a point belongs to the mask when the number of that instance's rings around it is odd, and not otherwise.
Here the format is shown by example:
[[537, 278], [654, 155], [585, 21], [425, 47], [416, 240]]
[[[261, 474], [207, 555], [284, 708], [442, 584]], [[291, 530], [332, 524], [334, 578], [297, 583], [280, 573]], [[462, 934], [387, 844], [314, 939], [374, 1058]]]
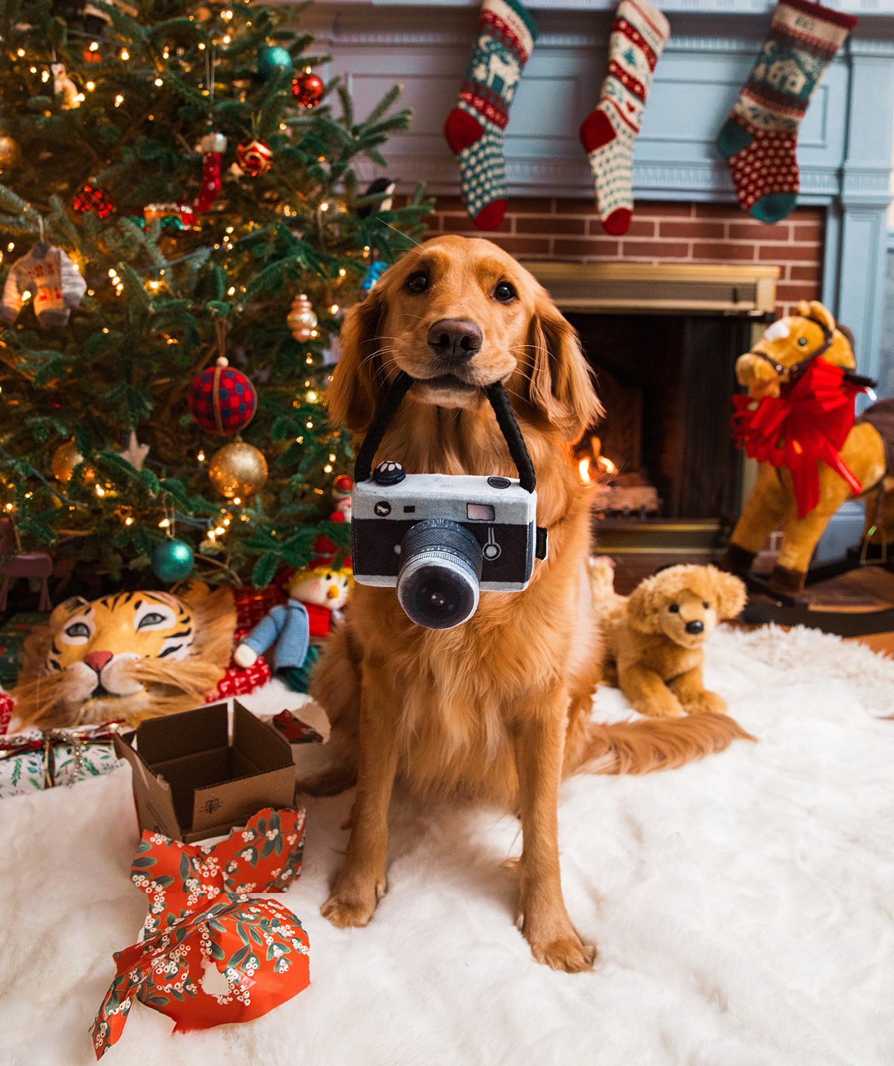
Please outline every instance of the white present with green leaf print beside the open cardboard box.
[[112, 747], [117, 725], [28, 729], [0, 737], [0, 798], [76, 785], [123, 766]]

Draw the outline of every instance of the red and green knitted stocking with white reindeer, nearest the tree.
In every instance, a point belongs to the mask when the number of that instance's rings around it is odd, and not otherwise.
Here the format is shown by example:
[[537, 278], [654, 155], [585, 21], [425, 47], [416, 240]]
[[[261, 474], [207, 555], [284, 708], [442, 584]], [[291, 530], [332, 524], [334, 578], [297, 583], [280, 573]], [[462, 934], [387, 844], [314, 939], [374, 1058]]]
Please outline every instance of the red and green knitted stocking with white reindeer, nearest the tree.
[[506, 213], [503, 130], [536, 37], [534, 19], [518, 0], [484, 0], [466, 81], [444, 123], [459, 157], [466, 210], [478, 229], [497, 229]]

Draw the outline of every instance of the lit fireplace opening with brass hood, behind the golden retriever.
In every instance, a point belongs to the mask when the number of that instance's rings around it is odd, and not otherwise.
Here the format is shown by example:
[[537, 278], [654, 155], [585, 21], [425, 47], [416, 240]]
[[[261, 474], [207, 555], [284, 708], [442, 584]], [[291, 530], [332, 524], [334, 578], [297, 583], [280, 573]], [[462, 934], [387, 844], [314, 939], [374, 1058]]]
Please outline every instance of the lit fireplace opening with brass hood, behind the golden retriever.
[[578, 330], [605, 407], [576, 456], [599, 482], [597, 510], [728, 527], [743, 495], [729, 424], [735, 360], [773, 317], [779, 269], [526, 265]]

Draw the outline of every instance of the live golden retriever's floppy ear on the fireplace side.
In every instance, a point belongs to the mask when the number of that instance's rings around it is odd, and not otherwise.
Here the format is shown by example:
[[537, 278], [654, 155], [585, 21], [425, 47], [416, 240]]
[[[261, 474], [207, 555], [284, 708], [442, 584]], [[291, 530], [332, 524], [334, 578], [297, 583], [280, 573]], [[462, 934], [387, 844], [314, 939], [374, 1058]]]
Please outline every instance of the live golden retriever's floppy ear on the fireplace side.
[[576, 440], [602, 416], [578, 334], [541, 290], [532, 323], [534, 366], [529, 399], [565, 440]]

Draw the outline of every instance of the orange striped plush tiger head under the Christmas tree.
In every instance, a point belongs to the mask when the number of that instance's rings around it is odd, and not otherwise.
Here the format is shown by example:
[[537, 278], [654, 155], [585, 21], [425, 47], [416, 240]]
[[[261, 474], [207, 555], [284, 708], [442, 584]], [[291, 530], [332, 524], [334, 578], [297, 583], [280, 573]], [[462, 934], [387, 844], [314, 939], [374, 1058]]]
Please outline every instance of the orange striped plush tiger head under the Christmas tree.
[[232, 591], [198, 581], [76, 596], [26, 641], [16, 714], [47, 729], [189, 710], [224, 676], [234, 629]]

